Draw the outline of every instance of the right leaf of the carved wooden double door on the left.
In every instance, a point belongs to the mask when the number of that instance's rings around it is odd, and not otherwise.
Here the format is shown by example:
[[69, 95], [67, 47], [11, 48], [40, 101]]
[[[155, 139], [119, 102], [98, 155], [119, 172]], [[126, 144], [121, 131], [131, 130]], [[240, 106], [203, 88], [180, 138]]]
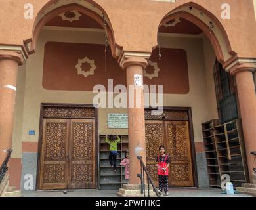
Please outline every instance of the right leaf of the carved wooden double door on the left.
[[72, 119], [68, 188], [95, 188], [95, 120]]

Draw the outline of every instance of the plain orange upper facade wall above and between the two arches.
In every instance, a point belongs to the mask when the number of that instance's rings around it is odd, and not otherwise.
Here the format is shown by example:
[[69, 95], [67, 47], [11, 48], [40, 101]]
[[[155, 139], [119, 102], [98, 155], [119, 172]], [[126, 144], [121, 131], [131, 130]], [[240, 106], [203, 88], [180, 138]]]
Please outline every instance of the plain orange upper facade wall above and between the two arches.
[[[53, 2], [53, 0], [30, 0], [33, 4], [34, 16], [36, 17], [45, 5]], [[157, 45], [157, 31], [162, 18], [173, 9], [189, 3], [190, 0], [179, 0], [176, 3], [150, 0], [89, 0], [89, 2], [100, 5], [106, 11], [118, 45], [129, 51], [151, 51], [152, 47]], [[253, 0], [193, 2], [211, 12], [221, 22], [233, 51], [245, 58], [256, 56], [256, 36], [252, 35], [256, 33]], [[24, 40], [32, 37], [35, 18], [24, 19], [25, 3], [28, 1], [1, 1], [0, 43], [22, 45]], [[223, 3], [229, 3], [231, 6], [230, 20], [221, 18]]]

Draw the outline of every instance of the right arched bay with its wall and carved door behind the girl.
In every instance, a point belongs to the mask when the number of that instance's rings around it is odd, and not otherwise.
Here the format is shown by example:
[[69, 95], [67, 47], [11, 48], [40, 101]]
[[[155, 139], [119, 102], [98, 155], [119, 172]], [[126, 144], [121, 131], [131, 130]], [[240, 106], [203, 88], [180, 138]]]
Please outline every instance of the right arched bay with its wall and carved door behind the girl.
[[[215, 60], [226, 64], [235, 56], [219, 20], [200, 5], [182, 5], [160, 23], [158, 46], [153, 48], [150, 61], [160, 68], [158, 77], [168, 80], [160, 81], [166, 95], [166, 113], [160, 118], [146, 119], [147, 163], [152, 168], [158, 146], [163, 144], [171, 155], [171, 187], [209, 186], [201, 123], [218, 118]], [[146, 69], [146, 73], [149, 71]], [[174, 106], [172, 114], [168, 114], [169, 106]], [[191, 117], [186, 117], [186, 108], [191, 109]], [[152, 126], [158, 126], [158, 132]], [[158, 144], [154, 144], [156, 139]], [[150, 173], [157, 182], [156, 170]]]

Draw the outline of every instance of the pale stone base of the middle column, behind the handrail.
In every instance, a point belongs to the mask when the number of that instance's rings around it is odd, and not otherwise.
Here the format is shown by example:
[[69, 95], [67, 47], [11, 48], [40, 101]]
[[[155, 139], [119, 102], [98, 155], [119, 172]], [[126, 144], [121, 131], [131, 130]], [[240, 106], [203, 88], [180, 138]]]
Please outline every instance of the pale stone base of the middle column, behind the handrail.
[[[145, 184], [146, 197], [148, 197], [148, 184]], [[141, 194], [141, 184], [123, 184], [123, 188], [117, 192], [118, 197], [144, 197]], [[150, 197], [156, 197], [152, 186], [150, 186]]]

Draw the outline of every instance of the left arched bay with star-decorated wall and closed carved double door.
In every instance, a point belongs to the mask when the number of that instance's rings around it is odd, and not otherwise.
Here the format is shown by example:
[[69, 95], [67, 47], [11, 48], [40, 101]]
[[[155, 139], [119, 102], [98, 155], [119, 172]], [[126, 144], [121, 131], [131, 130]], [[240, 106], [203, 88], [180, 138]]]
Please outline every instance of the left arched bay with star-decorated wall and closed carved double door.
[[119, 71], [107, 14], [96, 4], [62, 3], [47, 5], [43, 16], [39, 12], [30, 40], [26, 84], [33, 89], [27, 93], [37, 95], [25, 96], [25, 115], [40, 122], [37, 190], [98, 188], [98, 109], [92, 91], [97, 84], [107, 86], [111, 71]]

